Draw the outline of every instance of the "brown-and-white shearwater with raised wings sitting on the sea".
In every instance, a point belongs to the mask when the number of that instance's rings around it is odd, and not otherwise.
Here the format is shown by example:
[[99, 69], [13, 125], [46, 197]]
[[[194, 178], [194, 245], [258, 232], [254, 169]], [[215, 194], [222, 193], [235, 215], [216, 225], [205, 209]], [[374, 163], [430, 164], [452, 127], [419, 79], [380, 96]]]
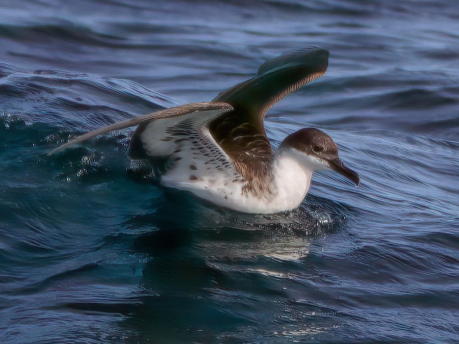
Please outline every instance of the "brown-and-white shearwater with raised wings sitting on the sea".
[[[323, 131], [303, 128], [274, 152], [263, 124], [279, 100], [322, 76], [328, 51], [306, 47], [265, 62], [257, 76], [221, 92], [210, 102], [191, 103], [91, 131], [51, 151], [136, 126], [129, 155], [148, 159], [164, 186], [186, 190], [244, 213], [296, 208], [314, 171], [331, 169], [359, 186], [335, 142]], [[159, 167], [160, 166], [160, 167]]]

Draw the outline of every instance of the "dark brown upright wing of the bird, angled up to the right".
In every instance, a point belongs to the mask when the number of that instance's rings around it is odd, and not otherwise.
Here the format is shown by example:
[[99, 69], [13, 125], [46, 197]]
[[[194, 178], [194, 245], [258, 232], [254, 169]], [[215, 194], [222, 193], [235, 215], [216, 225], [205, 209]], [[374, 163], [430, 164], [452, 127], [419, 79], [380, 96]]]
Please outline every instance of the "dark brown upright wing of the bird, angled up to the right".
[[244, 177], [263, 175], [269, 169], [265, 162], [273, 151], [263, 124], [266, 112], [285, 96], [323, 75], [327, 66], [327, 50], [295, 50], [265, 62], [257, 76], [223, 91], [213, 100], [234, 108], [212, 120], [209, 130]]

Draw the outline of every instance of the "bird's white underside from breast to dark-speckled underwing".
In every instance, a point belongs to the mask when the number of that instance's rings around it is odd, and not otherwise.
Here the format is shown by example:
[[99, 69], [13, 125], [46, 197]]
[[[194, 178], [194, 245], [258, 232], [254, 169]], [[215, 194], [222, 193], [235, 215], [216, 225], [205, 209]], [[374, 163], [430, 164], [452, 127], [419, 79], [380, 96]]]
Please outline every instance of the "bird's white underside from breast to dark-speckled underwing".
[[150, 156], [168, 156], [161, 182], [169, 188], [185, 190], [199, 198], [243, 213], [277, 213], [296, 208], [308, 192], [312, 170], [302, 166], [301, 157], [291, 149], [281, 149], [272, 163], [274, 178], [266, 178], [269, 195], [244, 190], [246, 181], [230, 157], [212, 138], [206, 123], [215, 111], [183, 118], [167, 118], [149, 123], [141, 133]]

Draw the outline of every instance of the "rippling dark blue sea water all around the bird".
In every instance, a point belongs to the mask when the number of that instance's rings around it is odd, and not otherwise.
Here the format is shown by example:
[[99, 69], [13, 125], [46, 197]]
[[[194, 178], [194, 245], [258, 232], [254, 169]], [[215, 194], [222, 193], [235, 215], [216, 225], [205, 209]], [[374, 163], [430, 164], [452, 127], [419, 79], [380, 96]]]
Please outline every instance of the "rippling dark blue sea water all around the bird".
[[[265, 60], [330, 51], [267, 116], [332, 136], [288, 214], [161, 189], [121, 119], [212, 99]], [[0, 342], [458, 342], [459, 6], [451, 0], [3, 0]]]

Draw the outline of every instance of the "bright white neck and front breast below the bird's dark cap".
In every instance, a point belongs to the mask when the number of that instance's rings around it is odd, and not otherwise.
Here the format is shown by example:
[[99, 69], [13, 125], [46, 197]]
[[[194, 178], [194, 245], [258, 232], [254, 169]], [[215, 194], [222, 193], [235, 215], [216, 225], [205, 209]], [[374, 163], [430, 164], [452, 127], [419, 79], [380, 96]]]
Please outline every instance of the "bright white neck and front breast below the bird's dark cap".
[[288, 147], [279, 147], [272, 164], [276, 203], [283, 210], [296, 208], [306, 196], [314, 169], [302, 163], [298, 153]]

